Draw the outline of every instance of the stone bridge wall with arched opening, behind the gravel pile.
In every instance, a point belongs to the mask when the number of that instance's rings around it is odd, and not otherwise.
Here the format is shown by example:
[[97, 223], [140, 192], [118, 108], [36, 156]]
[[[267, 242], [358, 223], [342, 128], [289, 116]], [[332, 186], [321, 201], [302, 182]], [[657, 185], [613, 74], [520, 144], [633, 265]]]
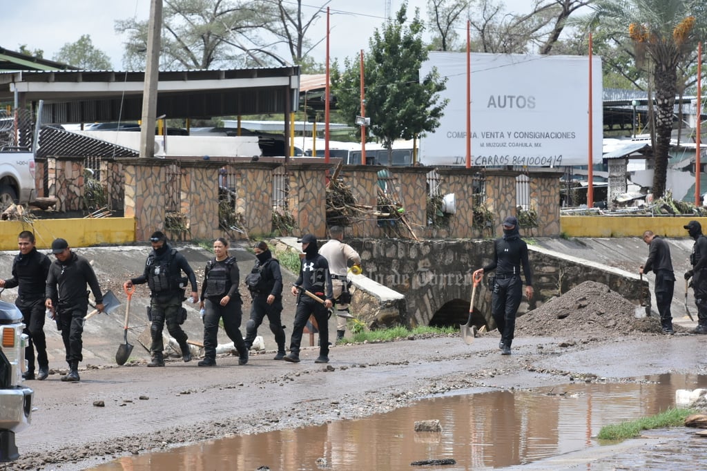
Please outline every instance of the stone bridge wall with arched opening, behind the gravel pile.
[[[347, 240], [361, 255], [363, 274], [406, 296], [402, 323], [460, 325], [467, 321], [472, 273], [493, 258], [492, 240]], [[639, 306], [650, 299], [648, 282], [635, 274], [549, 250], [530, 249], [535, 296], [525, 301], [519, 315], [592, 280]], [[474, 325], [496, 327], [491, 318], [491, 293], [484, 282], [477, 288]], [[368, 320], [367, 320], [368, 321]]]

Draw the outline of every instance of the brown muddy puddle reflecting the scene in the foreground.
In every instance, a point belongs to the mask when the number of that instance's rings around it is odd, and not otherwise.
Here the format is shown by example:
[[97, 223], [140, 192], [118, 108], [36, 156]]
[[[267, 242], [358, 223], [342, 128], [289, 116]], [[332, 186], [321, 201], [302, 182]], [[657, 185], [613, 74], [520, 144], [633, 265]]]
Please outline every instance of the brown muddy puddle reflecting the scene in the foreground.
[[[453, 458], [470, 470], [531, 463], [596, 445], [602, 426], [674, 407], [677, 389], [707, 388], [707, 376], [656, 375], [631, 384], [578, 383], [532, 392], [494, 391], [421, 400], [386, 414], [322, 426], [235, 436], [129, 456], [95, 470], [402, 470]], [[438, 419], [440, 434], [415, 433]]]

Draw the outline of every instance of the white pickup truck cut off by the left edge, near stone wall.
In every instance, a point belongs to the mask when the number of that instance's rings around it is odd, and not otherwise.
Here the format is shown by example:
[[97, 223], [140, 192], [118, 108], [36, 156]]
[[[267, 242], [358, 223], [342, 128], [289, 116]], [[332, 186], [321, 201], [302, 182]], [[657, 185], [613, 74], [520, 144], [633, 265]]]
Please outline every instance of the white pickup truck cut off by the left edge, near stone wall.
[[13, 203], [27, 204], [35, 197], [34, 153], [25, 148], [0, 148], [0, 211]]

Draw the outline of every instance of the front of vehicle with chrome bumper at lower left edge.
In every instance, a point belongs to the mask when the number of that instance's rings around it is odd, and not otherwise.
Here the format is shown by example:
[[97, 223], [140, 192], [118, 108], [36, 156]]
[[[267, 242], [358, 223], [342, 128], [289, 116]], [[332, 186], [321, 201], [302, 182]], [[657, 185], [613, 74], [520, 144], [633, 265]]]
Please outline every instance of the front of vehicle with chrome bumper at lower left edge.
[[22, 384], [28, 344], [22, 320], [17, 306], [0, 301], [0, 462], [19, 458], [15, 434], [32, 419], [34, 391]]

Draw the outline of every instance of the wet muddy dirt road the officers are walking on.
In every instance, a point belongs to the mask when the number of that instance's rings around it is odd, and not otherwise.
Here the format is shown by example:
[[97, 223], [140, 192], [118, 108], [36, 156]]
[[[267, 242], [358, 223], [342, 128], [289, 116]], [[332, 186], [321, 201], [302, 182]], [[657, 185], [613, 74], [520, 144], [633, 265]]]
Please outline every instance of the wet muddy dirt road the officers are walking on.
[[[326, 366], [314, 364], [317, 351], [306, 349], [300, 364], [264, 354], [245, 366], [226, 356], [216, 368], [173, 361], [165, 368], [95, 369], [74, 384], [52, 375], [31, 382], [33, 424], [17, 436], [20, 460], [4, 469], [83, 469], [179, 443], [354, 419], [450, 390], [707, 373], [694, 353], [701, 336], [640, 335], [560, 347], [570, 339], [518, 338], [511, 356], [498, 354], [495, 335], [471, 346], [457, 336], [334, 347]], [[600, 453], [583, 458], [600, 459]]]

